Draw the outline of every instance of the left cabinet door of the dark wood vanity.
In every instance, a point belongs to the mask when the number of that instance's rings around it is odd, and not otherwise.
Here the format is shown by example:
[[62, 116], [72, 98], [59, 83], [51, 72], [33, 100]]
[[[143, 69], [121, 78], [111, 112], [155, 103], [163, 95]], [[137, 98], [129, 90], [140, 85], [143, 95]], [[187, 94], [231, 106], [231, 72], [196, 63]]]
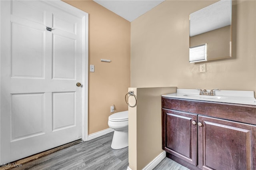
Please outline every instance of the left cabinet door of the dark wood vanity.
[[190, 164], [197, 165], [197, 115], [162, 110], [163, 149]]

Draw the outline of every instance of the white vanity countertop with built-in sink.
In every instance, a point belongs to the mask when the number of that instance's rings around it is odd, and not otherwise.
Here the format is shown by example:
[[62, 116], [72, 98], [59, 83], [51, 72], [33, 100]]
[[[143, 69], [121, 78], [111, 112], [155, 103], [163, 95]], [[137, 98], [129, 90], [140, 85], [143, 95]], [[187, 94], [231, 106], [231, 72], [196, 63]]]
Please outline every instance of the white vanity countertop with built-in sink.
[[[210, 93], [210, 90], [207, 91]], [[254, 91], [214, 90], [214, 96], [220, 99], [210, 99], [211, 96], [207, 98], [207, 95], [199, 95], [199, 93], [198, 89], [177, 89], [176, 93], [164, 94], [162, 97], [256, 105]]]

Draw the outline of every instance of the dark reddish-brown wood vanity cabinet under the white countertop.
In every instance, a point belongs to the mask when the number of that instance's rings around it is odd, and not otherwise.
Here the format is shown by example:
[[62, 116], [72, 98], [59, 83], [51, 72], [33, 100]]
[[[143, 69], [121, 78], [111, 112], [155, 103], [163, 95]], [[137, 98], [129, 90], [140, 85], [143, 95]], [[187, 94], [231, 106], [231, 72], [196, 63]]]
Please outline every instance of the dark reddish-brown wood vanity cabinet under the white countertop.
[[252, 105], [162, 97], [162, 148], [190, 169], [256, 170], [255, 124]]

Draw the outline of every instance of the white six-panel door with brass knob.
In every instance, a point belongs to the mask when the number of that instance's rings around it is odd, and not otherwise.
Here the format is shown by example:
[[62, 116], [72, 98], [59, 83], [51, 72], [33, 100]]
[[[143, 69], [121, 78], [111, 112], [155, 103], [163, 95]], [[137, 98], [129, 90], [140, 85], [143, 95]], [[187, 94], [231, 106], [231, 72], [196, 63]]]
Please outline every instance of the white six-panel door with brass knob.
[[0, 3], [0, 163], [8, 163], [82, 138], [82, 18], [51, 2]]

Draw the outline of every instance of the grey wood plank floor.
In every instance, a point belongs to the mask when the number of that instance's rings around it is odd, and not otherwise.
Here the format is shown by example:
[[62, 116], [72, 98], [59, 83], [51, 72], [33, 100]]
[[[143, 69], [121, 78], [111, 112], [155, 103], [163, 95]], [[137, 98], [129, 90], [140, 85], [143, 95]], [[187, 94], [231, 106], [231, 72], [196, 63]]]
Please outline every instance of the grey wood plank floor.
[[[113, 132], [81, 142], [12, 170], [126, 170], [129, 166], [128, 147], [112, 149], [112, 136]], [[164, 158], [154, 170], [189, 169]]]

